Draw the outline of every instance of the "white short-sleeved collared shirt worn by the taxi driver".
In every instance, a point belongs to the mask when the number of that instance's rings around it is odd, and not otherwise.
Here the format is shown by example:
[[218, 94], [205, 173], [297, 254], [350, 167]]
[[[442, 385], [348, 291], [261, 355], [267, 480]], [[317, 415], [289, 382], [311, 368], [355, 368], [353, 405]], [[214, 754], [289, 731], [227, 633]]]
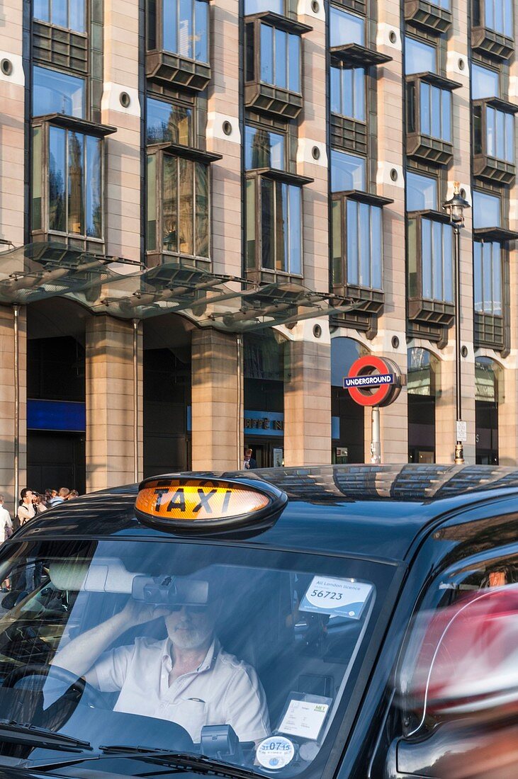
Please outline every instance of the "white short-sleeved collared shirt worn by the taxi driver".
[[169, 686], [171, 642], [137, 638], [104, 652], [93, 666], [101, 692], [120, 690], [115, 711], [176, 722], [199, 742], [203, 725], [230, 724], [240, 741], [270, 733], [263, 686], [252, 666], [224, 652], [216, 639], [196, 669]]

